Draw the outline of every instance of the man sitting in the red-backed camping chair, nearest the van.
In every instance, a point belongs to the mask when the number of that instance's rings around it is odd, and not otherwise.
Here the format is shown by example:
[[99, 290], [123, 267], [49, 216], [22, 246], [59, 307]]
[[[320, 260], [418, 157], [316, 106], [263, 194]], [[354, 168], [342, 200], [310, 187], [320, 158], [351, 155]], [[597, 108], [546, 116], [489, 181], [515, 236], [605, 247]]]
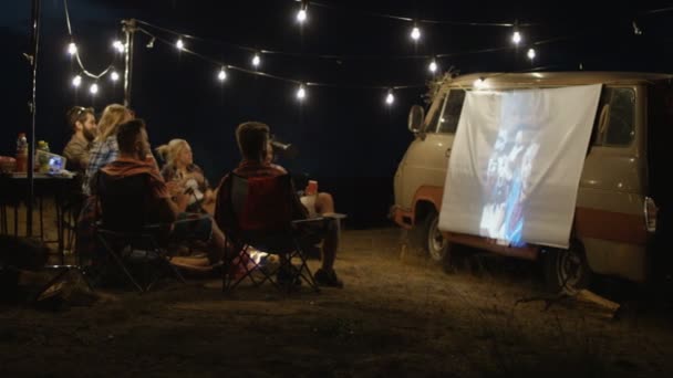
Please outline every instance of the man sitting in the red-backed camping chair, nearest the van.
[[[236, 140], [242, 155], [242, 160], [234, 169], [234, 174], [245, 178], [277, 177], [288, 174], [284, 168], [272, 164], [269, 159], [269, 126], [259, 122], [246, 122], [237, 127]], [[226, 180], [227, 176], [221, 179], [217, 190], [218, 198], [216, 200], [215, 219], [218, 222], [224, 222], [225, 217], [220, 213], [221, 203], [224, 202], [220, 200], [220, 195], [225, 192], [221, 188]], [[309, 217], [308, 209], [301, 204], [296, 192], [292, 195], [292, 213], [294, 218], [307, 219]], [[331, 220], [322, 243], [322, 266], [314, 274], [318, 284], [323, 286], [343, 287], [343, 282], [336, 276], [333, 269], [339, 248], [339, 220]]]

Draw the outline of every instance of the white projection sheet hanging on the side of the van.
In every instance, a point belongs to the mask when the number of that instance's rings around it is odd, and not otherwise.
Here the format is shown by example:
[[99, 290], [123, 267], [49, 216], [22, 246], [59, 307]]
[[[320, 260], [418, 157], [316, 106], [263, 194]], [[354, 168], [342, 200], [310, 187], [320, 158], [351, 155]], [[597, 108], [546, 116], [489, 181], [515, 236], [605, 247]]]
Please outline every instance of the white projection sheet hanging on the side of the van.
[[601, 85], [468, 92], [439, 230], [568, 248]]

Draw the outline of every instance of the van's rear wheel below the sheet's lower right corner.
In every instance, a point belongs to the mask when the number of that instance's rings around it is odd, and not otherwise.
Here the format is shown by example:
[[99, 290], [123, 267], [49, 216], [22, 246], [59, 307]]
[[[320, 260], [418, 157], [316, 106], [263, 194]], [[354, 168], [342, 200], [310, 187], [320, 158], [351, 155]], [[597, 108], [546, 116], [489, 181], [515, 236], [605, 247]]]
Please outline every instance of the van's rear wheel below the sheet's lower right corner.
[[547, 285], [553, 292], [574, 294], [589, 286], [591, 270], [579, 241], [573, 241], [567, 250], [548, 250], [543, 264]]

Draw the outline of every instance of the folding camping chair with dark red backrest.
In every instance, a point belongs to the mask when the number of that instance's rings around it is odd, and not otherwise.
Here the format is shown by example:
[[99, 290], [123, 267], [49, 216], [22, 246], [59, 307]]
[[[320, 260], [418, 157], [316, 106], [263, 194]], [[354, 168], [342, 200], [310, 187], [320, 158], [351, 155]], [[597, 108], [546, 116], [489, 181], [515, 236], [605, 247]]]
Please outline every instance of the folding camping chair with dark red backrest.
[[[320, 232], [328, 220], [293, 220], [293, 202], [299, 202], [290, 175], [245, 178], [231, 172], [218, 197], [216, 220], [231, 246], [225, 256], [224, 292], [245, 279], [250, 279], [256, 286], [269, 281], [277, 288], [288, 291], [306, 282], [315, 292], [320, 291], [307, 264], [303, 245], [321, 239]], [[278, 255], [280, 264], [276, 269], [260, 266], [250, 256], [251, 248]], [[299, 260], [299, 266], [292, 265], [293, 259]], [[237, 267], [244, 272], [239, 277], [232, 274]], [[261, 273], [259, 281], [255, 272]], [[284, 275], [283, 282], [276, 277], [279, 273]]]

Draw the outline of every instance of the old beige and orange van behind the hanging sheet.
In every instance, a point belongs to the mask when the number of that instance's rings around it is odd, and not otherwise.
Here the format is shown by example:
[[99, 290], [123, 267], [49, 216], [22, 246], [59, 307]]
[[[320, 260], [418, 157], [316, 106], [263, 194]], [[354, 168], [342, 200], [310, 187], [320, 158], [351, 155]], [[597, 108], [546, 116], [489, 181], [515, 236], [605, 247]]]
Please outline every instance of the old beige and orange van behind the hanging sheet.
[[[592, 273], [644, 283], [651, 277], [653, 235], [669, 207], [667, 145], [673, 119], [673, 76], [631, 72], [536, 72], [447, 75], [432, 88], [427, 115], [414, 105], [414, 140], [394, 177], [390, 217], [420, 234], [429, 258], [446, 261], [452, 246], [469, 245], [542, 260], [547, 282], [572, 292]], [[442, 231], [438, 214], [466, 92], [602, 84], [584, 158], [568, 249], [503, 245], [474, 234]], [[572, 112], [572, 109], [559, 109]], [[660, 224], [661, 229], [661, 224]], [[661, 231], [659, 232], [661, 233]]]

